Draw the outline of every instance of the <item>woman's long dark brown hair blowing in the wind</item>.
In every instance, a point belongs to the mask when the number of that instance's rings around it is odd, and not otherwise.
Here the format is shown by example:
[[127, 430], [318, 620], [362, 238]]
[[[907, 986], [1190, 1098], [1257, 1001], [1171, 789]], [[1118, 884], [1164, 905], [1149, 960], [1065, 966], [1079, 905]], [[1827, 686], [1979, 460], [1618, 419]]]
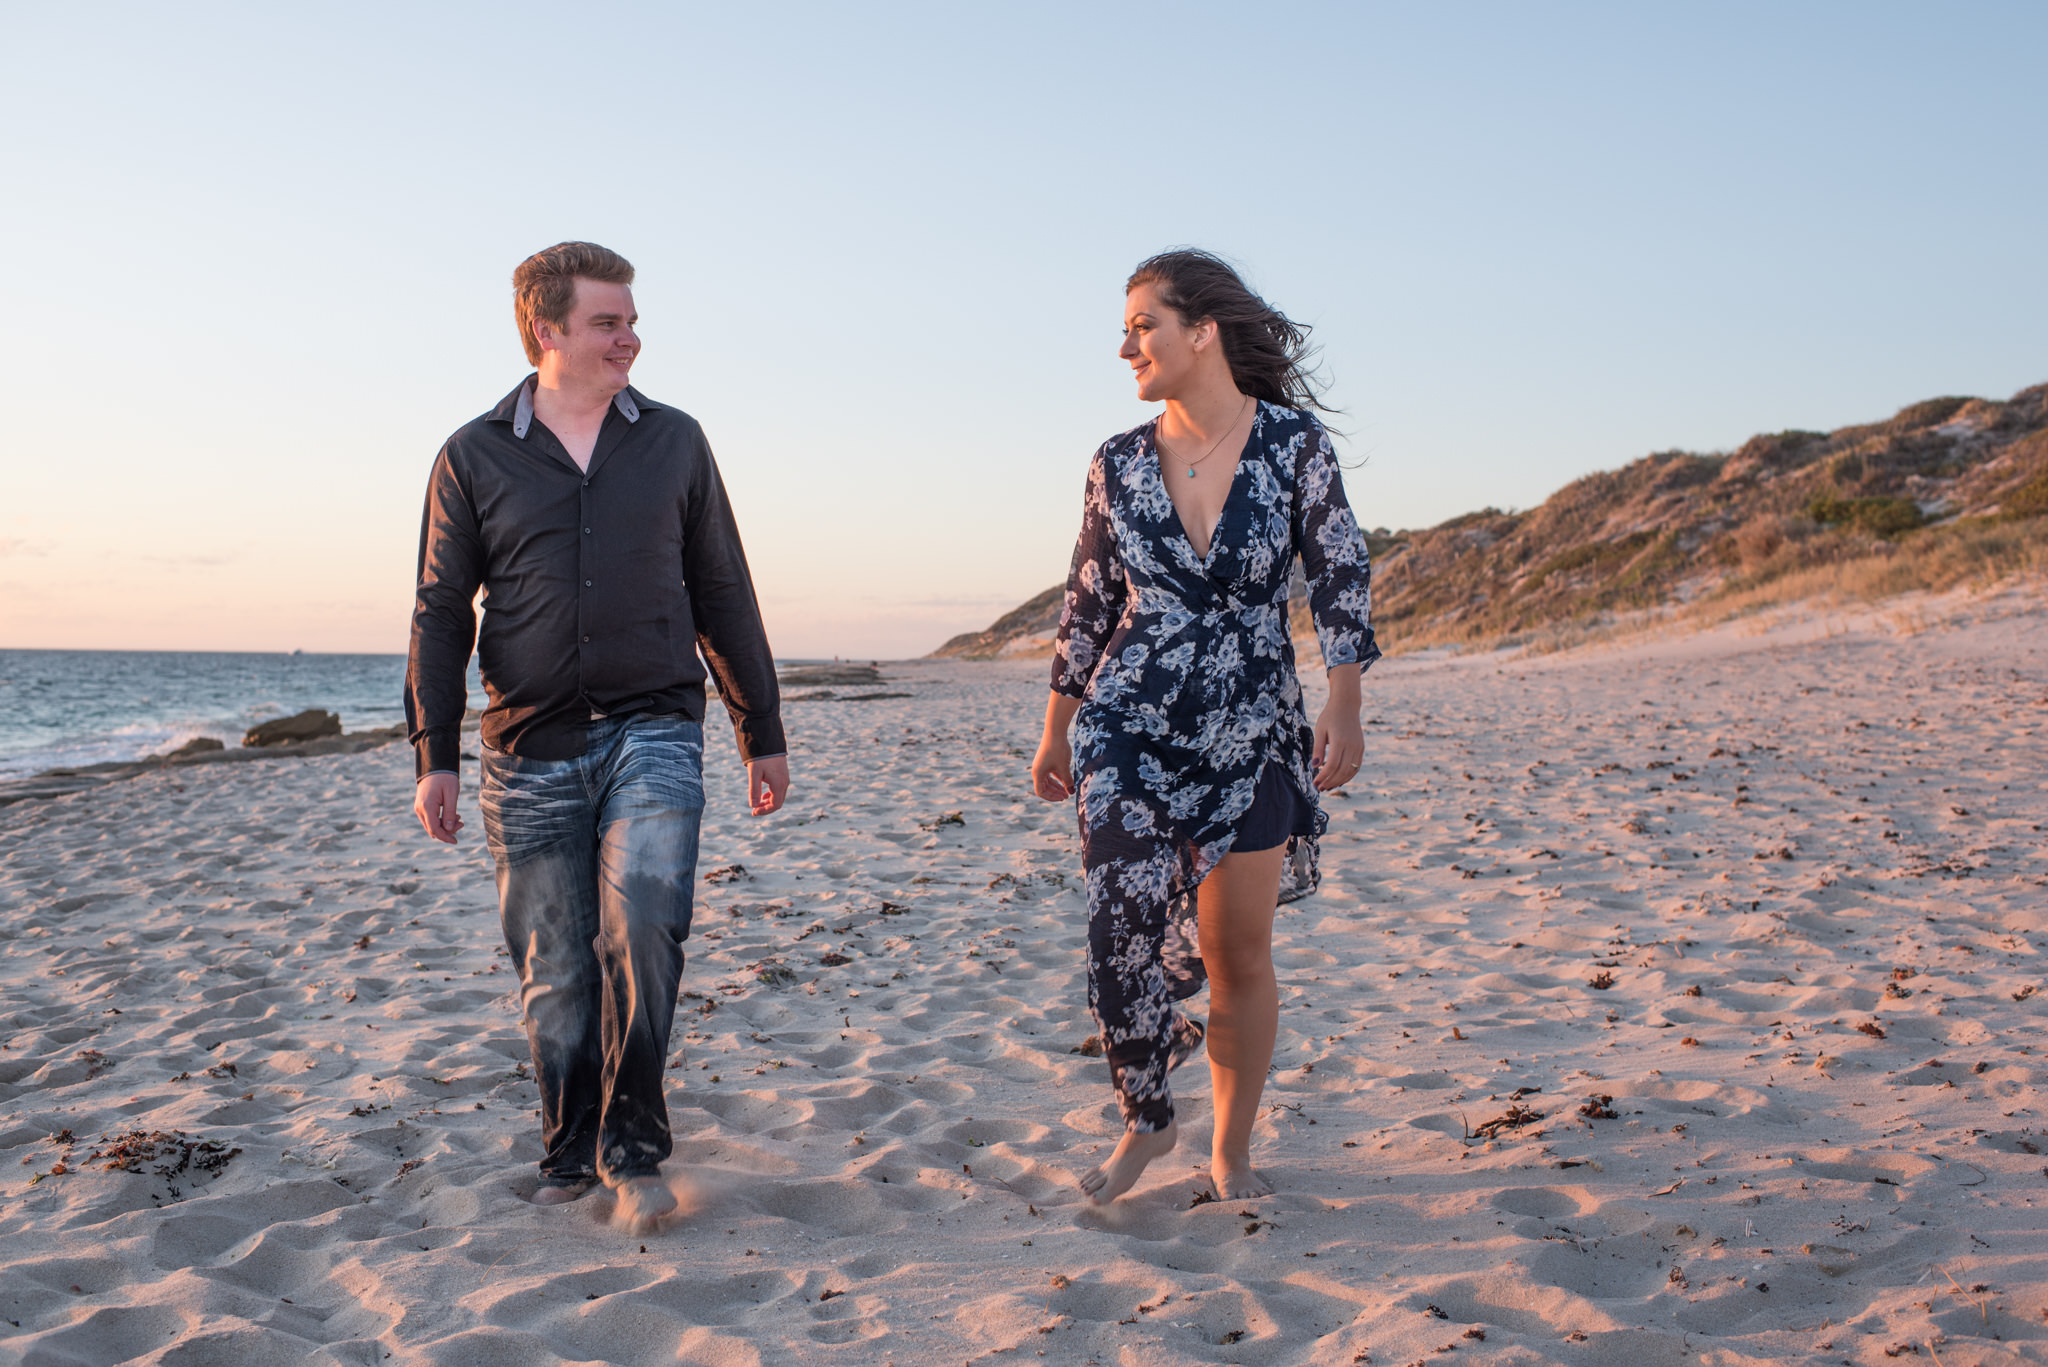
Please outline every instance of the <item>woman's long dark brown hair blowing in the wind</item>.
[[1214, 320], [1239, 391], [1303, 412], [1333, 412], [1323, 402], [1309, 326], [1251, 293], [1214, 252], [1182, 246], [1147, 256], [1124, 281], [1124, 293], [1139, 285], [1157, 289], [1159, 299], [1190, 328]]

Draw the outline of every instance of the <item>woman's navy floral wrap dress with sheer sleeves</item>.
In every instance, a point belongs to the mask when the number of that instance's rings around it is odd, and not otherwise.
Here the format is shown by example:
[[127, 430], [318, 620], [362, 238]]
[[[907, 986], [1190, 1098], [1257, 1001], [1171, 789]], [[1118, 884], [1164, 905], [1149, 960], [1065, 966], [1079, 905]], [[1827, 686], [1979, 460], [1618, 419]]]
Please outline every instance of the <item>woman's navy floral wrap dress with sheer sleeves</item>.
[[[1288, 635], [1296, 553], [1325, 666], [1380, 658], [1366, 539], [1323, 424], [1260, 404], [1206, 560], [1167, 496], [1155, 430], [1112, 437], [1087, 467], [1053, 658], [1053, 691], [1083, 699], [1087, 1004], [1139, 1131], [1174, 1119], [1167, 1068], [1192, 1035], [1176, 1002], [1206, 982], [1194, 889], [1231, 851], [1266, 764], [1315, 801]], [[1288, 871], [1294, 896], [1315, 889], [1313, 836], [1290, 842]]]

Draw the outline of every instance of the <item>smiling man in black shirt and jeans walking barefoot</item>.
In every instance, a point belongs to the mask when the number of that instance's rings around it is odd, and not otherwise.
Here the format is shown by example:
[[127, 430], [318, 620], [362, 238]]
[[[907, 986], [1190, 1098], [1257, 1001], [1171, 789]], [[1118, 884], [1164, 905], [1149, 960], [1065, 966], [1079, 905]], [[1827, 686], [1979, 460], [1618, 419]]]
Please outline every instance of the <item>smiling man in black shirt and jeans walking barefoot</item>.
[[[614, 1189], [676, 1207], [662, 1070], [705, 812], [705, 664], [754, 816], [782, 805], [774, 660], [705, 430], [627, 383], [633, 266], [563, 242], [512, 273], [537, 373], [434, 457], [406, 668], [414, 812], [457, 793], [465, 674], [483, 666], [483, 834], [541, 1084], [535, 1205]], [[473, 600], [483, 590], [483, 635]]]

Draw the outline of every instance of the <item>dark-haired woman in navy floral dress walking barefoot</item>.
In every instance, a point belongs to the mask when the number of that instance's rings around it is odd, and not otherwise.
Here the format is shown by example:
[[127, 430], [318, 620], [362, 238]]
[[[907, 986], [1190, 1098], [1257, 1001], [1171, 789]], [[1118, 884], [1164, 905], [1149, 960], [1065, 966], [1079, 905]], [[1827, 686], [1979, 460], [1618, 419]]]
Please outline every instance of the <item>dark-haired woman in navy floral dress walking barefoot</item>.
[[[1358, 773], [1358, 676], [1380, 654], [1305, 342], [1208, 252], [1163, 252], [1124, 285], [1120, 355], [1165, 412], [1087, 467], [1032, 760], [1038, 797], [1079, 797], [1087, 1000], [1124, 1117], [1116, 1152], [1081, 1178], [1096, 1203], [1178, 1140], [1167, 1070], [1204, 1033], [1176, 1002], [1204, 978], [1208, 1172], [1223, 1199], [1272, 1191], [1251, 1168], [1251, 1123], [1280, 1023], [1280, 875], [1315, 885], [1315, 793]], [[1288, 639], [1296, 553], [1329, 670], [1313, 732]]]

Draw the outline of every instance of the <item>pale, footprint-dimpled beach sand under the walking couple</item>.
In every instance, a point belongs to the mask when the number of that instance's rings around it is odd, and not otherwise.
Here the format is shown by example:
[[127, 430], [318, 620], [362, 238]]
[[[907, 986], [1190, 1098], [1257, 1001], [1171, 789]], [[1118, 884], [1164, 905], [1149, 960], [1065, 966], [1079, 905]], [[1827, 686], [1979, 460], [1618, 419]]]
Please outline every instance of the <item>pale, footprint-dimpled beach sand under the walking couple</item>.
[[[0, 1359], [2042, 1361], [2048, 615], [1913, 611], [1374, 670], [1280, 916], [1280, 1195], [1194, 1209], [1200, 1064], [1180, 1154], [1073, 1187], [1116, 1123], [1038, 662], [793, 705], [766, 822], [715, 748], [702, 869], [752, 877], [647, 1238], [524, 1201], [481, 824], [430, 846], [403, 750], [8, 807]], [[129, 1131], [242, 1152], [104, 1170]]]

